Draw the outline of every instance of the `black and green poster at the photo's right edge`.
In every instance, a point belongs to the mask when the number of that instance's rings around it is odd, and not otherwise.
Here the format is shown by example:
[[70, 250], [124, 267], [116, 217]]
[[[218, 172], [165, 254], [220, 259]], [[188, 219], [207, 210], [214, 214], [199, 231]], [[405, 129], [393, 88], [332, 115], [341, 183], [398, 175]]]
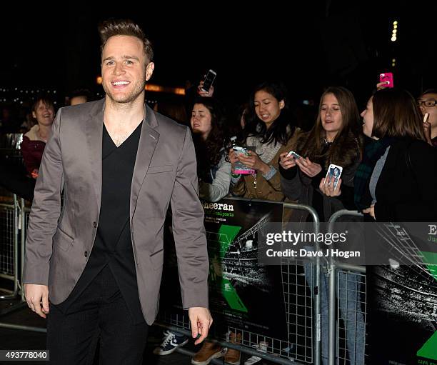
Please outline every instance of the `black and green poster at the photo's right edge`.
[[[386, 265], [368, 266], [371, 364], [437, 364], [437, 254], [423, 242], [434, 224], [383, 224]], [[427, 246], [428, 249], [430, 246]]]

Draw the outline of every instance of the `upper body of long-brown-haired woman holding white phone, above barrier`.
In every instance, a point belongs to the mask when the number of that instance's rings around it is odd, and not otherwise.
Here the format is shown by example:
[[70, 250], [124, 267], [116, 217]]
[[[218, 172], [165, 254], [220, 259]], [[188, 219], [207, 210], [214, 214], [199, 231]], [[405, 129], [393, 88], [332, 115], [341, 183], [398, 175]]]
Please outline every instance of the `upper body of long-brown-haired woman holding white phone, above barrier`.
[[[353, 176], [361, 161], [360, 116], [351, 91], [329, 87], [322, 94], [316, 124], [296, 142], [296, 159], [280, 154], [284, 194], [300, 204], [313, 206], [321, 221], [340, 209], [353, 209]], [[325, 181], [330, 164], [343, 167], [334, 189]], [[338, 171], [339, 172], [339, 171]], [[329, 179], [329, 178], [328, 178]]]

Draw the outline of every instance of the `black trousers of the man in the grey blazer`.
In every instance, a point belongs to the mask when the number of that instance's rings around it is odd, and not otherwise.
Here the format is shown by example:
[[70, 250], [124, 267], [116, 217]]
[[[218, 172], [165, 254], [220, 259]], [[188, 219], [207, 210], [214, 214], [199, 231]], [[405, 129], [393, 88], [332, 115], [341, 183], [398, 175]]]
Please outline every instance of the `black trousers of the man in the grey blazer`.
[[64, 313], [50, 305], [50, 364], [92, 364], [100, 338], [99, 364], [141, 365], [149, 326], [134, 324], [108, 265]]

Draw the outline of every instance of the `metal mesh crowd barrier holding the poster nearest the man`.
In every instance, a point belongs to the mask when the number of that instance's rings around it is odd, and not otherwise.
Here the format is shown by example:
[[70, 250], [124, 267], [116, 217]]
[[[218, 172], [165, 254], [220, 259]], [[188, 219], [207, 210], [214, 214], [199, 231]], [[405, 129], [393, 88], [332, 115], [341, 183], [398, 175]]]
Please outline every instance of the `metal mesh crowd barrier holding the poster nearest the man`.
[[[226, 198], [229, 199], [229, 198]], [[231, 198], [232, 200], [268, 202], [269, 204], [282, 204], [283, 209], [296, 209], [308, 212], [313, 218], [313, 229], [318, 233], [320, 223], [316, 211], [311, 206], [293, 203], [281, 203], [263, 201], [258, 199]], [[213, 341], [222, 346], [236, 349], [242, 353], [258, 356], [261, 359], [272, 361], [276, 364], [320, 364], [321, 359], [321, 324], [320, 307], [321, 297], [318, 287], [320, 286], [320, 258], [316, 258], [316, 264], [311, 265], [311, 276], [314, 286], [311, 288], [306, 282], [303, 264], [281, 265], [284, 304], [286, 306], [288, 341], [274, 339], [272, 337], [247, 331], [245, 329], [228, 327], [228, 332], [241, 334], [241, 344], [226, 341], [223, 334], [216, 334]], [[315, 281], [314, 281], [315, 279]], [[175, 313], [161, 313], [157, 321], [159, 326], [181, 334], [190, 335], [191, 326], [188, 316]], [[256, 345], [261, 341], [268, 343], [267, 352], [257, 351]], [[177, 349], [184, 354], [193, 355], [185, 349]]]

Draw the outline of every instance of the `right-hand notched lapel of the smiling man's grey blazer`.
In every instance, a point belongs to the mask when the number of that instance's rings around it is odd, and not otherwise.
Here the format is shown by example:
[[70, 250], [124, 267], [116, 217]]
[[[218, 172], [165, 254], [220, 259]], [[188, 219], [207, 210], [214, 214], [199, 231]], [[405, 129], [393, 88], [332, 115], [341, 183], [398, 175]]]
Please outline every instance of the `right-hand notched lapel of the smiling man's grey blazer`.
[[134, 176], [132, 176], [131, 185], [131, 206], [130, 213], [131, 218], [134, 216], [136, 207], [136, 200], [138, 194], [146, 178], [147, 170], [149, 169], [150, 161], [154, 155], [156, 144], [158, 144], [159, 133], [156, 131], [158, 122], [154, 111], [145, 104], [146, 118], [143, 120], [141, 126], [141, 136], [138, 145], [138, 151], [136, 152], [136, 160], [134, 167]]

